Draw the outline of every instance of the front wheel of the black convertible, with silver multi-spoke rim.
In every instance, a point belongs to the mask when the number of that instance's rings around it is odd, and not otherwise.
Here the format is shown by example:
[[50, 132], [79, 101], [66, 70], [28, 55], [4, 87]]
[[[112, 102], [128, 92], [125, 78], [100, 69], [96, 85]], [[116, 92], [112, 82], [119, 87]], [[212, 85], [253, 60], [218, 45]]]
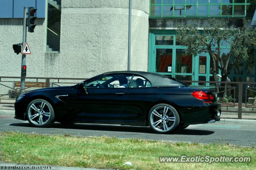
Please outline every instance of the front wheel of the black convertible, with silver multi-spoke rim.
[[49, 127], [54, 123], [54, 110], [48, 101], [36, 99], [28, 104], [27, 117], [34, 127]]

